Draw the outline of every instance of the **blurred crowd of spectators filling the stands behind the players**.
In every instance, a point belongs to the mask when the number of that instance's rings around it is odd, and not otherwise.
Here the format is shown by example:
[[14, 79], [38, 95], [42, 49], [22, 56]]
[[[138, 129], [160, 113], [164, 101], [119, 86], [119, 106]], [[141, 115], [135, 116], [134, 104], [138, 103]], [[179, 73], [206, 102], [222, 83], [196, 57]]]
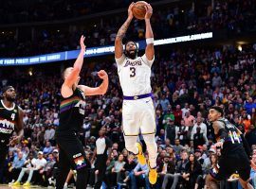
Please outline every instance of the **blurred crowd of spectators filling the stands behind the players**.
[[[52, 2], [52, 5], [45, 0], [29, 4], [27, 1], [27, 8], [24, 9], [11, 0], [4, 4], [13, 7], [8, 14], [8, 7], [0, 8], [0, 23], [73, 19], [117, 8], [122, 11], [122, 8], [127, 8], [130, 4], [130, 1], [114, 1], [113, 5], [106, 2], [60, 0]], [[152, 18], [155, 39], [219, 30], [225, 30], [225, 38], [228, 39], [227, 36], [239, 37], [256, 29], [254, 0], [199, 2], [201, 3], [198, 5], [190, 6], [170, 3], [167, 4], [169, 6], [155, 9]], [[44, 24], [46, 28], [44, 25], [35, 28], [34, 36], [28, 37], [29, 40], [25, 42], [22, 42], [17, 30], [11, 34], [2, 32], [0, 56], [22, 57], [77, 49], [81, 33], [86, 36], [87, 46], [113, 44], [124, 19], [125, 15], [112, 16], [110, 19], [100, 16], [91, 20], [88, 26], [79, 22], [77, 25], [63, 26], [59, 31], [57, 26]], [[143, 22], [134, 21], [127, 33], [127, 39], [142, 40], [144, 34]], [[140, 51], [139, 55], [142, 54], [143, 51]], [[159, 173], [155, 188], [204, 187], [205, 177], [210, 168], [216, 165], [220, 155], [220, 151], [212, 146], [215, 143], [214, 133], [208, 121], [208, 111], [213, 105], [223, 107], [229, 121], [245, 134], [251, 147], [252, 161], [256, 163], [255, 55], [256, 44], [253, 40], [241, 45], [239, 49], [235, 43], [197, 43], [192, 46], [177, 44], [165, 49], [156, 47], [151, 77]], [[111, 179], [105, 180], [107, 185], [130, 185], [130, 188], [138, 188], [139, 185], [135, 184], [142, 183], [145, 188], [150, 188], [147, 184], [148, 170], [139, 171], [136, 158], [125, 150], [121, 132], [122, 93], [114, 61], [113, 56], [84, 60], [82, 84], [99, 86], [101, 79], [97, 76], [97, 71], [101, 69], [108, 73], [110, 84], [105, 95], [86, 97], [86, 116], [80, 138], [88, 160], [92, 158], [100, 129], [105, 129], [106, 136], [113, 142], [112, 162], [106, 171], [107, 178]], [[9, 147], [5, 167], [1, 167], [0, 182], [18, 180], [22, 168], [35, 163], [33, 159], [46, 159], [32, 177], [32, 183], [45, 186], [54, 183], [58, 174], [58, 147], [54, 134], [59, 125], [61, 70], [72, 63], [0, 70], [0, 85], [14, 86], [18, 94], [16, 103], [26, 112], [24, 137], [20, 144]], [[134, 174], [130, 175], [129, 172]], [[251, 169], [251, 179], [256, 187], [255, 172], [256, 170]], [[93, 187], [95, 180], [97, 172], [92, 161], [88, 184]], [[222, 181], [221, 186], [240, 187], [237, 175]]]

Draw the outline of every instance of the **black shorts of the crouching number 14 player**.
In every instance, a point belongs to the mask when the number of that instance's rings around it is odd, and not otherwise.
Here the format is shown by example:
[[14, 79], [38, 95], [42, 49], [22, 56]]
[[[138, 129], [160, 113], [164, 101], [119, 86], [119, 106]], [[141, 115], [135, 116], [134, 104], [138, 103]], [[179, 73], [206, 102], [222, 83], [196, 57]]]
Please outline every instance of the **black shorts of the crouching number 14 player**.
[[218, 167], [211, 169], [210, 175], [215, 180], [226, 180], [236, 172], [242, 180], [249, 179], [250, 162], [244, 151], [226, 157], [220, 157]]

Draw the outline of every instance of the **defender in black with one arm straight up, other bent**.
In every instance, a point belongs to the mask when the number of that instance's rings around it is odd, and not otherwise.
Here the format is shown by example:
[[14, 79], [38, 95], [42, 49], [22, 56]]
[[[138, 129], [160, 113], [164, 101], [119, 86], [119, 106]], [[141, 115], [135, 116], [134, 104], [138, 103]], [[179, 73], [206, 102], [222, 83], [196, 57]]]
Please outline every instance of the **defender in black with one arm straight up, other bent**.
[[64, 181], [71, 169], [77, 170], [77, 189], [86, 188], [88, 177], [88, 163], [86, 162], [84, 149], [79, 140], [78, 132], [82, 129], [85, 112], [85, 95], [105, 94], [108, 88], [108, 76], [105, 71], [98, 72], [103, 80], [101, 86], [90, 88], [78, 85], [80, 71], [82, 69], [85, 45], [84, 37], [81, 37], [81, 52], [73, 67], [64, 70], [64, 84], [61, 89], [60, 126], [56, 129], [55, 137], [60, 148], [60, 172], [56, 180], [56, 188], [63, 189]]

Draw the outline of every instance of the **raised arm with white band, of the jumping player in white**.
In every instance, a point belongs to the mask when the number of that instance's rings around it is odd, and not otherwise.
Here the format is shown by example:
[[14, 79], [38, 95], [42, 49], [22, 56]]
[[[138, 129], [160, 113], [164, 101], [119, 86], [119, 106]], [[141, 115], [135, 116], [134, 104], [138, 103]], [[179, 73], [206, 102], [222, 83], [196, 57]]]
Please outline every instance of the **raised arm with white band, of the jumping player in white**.
[[147, 43], [145, 54], [148, 60], [153, 60], [155, 55], [154, 34], [150, 24], [150, 18], [153, 14], [153, 9], [150, 4], [145, 6], [145, 9], [146, 9], [145, 24], [146, 24], [146, 43]]

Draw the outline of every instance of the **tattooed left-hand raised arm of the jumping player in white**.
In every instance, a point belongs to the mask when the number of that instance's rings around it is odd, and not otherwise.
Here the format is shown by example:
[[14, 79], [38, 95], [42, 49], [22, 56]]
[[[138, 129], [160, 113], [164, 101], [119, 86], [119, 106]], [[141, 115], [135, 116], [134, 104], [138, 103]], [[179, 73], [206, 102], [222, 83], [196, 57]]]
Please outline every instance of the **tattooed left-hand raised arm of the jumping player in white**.
[[119, 32], [117, 34], [116, 40], [115, 40], [115, 58], [119, 59], [122, 54], [123, 54], [123, 49], [122, 49], [122, 39], [128, 29], [128, 26], [130, 26], [130, 23], [132, 22], [134, 15], [133, 15], [133, 7], [135, 3], [133, 2], [128, 9], [128, 18], [125, 21], [125, 23], [119, 28]]

